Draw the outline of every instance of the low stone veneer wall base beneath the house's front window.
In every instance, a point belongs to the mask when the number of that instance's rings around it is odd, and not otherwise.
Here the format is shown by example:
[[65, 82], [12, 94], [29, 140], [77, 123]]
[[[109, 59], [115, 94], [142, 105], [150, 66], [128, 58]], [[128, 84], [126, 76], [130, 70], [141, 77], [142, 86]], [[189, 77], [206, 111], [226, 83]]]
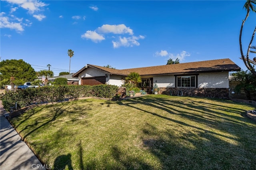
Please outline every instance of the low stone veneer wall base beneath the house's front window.
[[228, 88], [180, 88], [180, 87], [160, 87], [160, 94], [177, 96], [178, 91], [183, 92], [183, 96], [208, 97], [228, 99]]

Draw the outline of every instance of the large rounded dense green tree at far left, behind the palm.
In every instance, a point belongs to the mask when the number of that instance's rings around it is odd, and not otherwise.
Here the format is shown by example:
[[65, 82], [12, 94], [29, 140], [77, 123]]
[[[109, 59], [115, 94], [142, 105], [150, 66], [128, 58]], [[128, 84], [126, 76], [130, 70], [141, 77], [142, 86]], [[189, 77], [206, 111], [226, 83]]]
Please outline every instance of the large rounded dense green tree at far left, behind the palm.
[[[16, 60], [16, 59], [7, 59], [0, 62], [0, 85], [8, 85], [10, 84], [10, 74], [14, 73], [15, 77], [14, 80], [12, 79], [12, 83], [16, 85], [21, 85], [25, 83], [26, 81], [33, 81], [37, 78], [36, 71], [31, 67], [30, 64], [26, 63], [22, 59]], [[6, 69], [3, 69], [4, 67], [9, 67], [6, 71]], [[9, 73], [11, 71], [12, 73]]]

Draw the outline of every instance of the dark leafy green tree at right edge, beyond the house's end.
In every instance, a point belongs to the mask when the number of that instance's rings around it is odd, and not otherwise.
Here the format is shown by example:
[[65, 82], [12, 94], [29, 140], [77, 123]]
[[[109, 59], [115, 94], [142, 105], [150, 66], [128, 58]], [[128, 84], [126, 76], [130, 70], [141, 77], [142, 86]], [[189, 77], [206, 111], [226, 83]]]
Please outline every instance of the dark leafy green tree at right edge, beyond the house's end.
[[252, 97], [256, 96], [256, 77], [252, 74], [252, 72], [242, 70], [232, 73], [231, 75], [241, 80], [241, 83], [236, 85], [234, 89], [236, 92], [240, 92], [241, 89], [244, 89], [248, 100], [251, 100]]

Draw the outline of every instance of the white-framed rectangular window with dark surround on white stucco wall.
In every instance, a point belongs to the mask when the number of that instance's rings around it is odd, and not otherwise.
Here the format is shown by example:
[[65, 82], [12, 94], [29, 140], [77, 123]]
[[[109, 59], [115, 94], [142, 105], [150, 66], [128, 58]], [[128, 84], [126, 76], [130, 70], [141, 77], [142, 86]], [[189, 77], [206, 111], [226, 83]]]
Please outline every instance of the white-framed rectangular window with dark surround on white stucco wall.
[[176, 76], [177, 87], [196, 87], [196, 76]]

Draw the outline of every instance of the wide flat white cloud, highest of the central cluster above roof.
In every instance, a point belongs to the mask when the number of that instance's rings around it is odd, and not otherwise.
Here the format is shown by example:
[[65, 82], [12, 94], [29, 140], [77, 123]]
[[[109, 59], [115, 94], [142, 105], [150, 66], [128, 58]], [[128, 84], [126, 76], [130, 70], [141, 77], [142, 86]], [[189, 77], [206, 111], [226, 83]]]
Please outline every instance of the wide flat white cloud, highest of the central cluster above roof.
[[119, 24], [119, 25], [104, 24], [101, 27], [97, 28], [97, 32], [100, 32], [100, 33], [113, 33], [113, 34], [126, 34], [126, 33], [129, 33], [130, 35], [133, 35], [132, 29], [130, 29], [130, 27], [126, 27], [124, 24]]

